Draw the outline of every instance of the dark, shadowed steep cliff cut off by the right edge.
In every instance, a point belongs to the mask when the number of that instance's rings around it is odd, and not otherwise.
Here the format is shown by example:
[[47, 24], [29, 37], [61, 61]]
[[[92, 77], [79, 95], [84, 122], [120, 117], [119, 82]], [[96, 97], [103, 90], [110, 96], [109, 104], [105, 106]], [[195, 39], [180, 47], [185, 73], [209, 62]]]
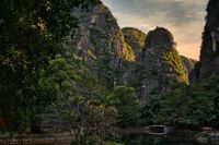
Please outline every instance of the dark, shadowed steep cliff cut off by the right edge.
[[209, 0], [200, 55], [200, 78], [219, 74], [219, 1]]

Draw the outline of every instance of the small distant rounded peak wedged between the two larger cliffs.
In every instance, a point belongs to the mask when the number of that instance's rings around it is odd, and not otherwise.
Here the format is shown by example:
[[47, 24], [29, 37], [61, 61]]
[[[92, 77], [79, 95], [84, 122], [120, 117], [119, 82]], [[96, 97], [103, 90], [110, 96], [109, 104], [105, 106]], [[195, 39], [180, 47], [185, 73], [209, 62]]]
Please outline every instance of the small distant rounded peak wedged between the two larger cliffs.
[[139, 61], [147, 35], [138, 28], [134, 27], [124, 27], [122, 31], [125, 37], [125, 41], [132, 48], [136, 60]]

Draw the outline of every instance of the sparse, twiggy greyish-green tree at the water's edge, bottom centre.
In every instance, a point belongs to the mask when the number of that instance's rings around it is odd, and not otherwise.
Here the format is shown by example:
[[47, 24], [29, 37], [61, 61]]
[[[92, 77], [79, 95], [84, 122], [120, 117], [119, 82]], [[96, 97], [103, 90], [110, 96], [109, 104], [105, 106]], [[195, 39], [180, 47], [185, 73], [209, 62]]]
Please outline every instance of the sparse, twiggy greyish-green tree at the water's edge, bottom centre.
[[67, 102], [61, 116], [70, 126], [72, 145], [103, 145], [106, 136], [114, 135], [115, 107], [82, 96], [72, 96]]

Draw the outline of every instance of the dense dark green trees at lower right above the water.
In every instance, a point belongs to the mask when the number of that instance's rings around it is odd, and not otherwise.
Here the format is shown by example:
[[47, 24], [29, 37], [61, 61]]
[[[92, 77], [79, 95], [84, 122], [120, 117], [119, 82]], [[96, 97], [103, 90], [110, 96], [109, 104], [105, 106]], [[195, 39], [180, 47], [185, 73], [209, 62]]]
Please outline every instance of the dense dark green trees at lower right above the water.
[[164, 95], [151, 96], [145, 116], [150, 123], [203, 126], [219, 125], [219, 77], [175, 87]]

